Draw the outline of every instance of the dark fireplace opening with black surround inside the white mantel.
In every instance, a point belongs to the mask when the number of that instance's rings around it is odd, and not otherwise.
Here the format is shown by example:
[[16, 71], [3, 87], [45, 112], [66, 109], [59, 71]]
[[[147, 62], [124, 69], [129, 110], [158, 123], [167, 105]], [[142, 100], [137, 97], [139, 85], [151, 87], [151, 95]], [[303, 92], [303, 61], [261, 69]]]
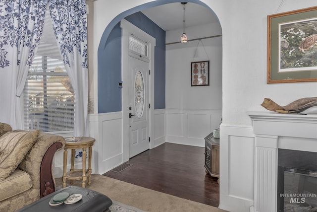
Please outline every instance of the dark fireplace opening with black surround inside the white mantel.
[[317, 212], [317, 153], [278, 149], [278, 212]]

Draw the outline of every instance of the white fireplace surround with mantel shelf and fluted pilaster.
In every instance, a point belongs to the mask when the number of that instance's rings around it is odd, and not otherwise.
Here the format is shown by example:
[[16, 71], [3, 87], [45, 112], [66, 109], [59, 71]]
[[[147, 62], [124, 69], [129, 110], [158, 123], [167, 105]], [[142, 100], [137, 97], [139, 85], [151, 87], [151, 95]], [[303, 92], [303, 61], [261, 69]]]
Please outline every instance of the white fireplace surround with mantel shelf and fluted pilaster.
[[255, 134], [254, 211], [277, 210], [278, 148], [317, 152], [317, 114], [248, 112]]

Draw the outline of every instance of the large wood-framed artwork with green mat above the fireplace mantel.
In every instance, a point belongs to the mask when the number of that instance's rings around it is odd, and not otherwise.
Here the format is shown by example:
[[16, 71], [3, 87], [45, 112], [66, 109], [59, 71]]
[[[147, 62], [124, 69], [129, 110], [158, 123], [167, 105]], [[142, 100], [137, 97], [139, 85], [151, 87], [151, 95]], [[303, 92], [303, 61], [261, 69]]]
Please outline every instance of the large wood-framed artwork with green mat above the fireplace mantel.
[[267, 16], [267, 83], [317, 81], [317, 6]]

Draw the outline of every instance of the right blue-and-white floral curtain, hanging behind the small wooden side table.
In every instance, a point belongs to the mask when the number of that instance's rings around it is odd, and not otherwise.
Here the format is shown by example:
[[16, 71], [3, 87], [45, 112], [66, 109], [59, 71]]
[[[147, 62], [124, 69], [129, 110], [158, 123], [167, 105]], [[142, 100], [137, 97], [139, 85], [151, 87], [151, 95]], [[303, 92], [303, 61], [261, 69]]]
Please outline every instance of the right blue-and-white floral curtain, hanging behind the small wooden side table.
[[75, 91], [74, 136], [88, 136], [86, 0], [49, 0], [57, 44]]

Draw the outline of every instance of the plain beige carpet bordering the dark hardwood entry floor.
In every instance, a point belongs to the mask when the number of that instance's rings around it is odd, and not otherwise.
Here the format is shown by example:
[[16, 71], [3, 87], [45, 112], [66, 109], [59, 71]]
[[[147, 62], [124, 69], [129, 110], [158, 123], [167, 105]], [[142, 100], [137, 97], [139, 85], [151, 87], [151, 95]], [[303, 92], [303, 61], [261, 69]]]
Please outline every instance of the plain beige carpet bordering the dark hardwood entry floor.
[[[55, 181], [56, 186], [61, 186], [61, 178], [56, 178]], [[73, 185], [81, 186], [81, 181], [74, 181]], [[143, 188], [99, 174], [91, 176], [91, 185], [86, 185], [86, 188], [105, 194], [113, 202], [125, 204], [128, 206], [127, 209], [130, 209], [130, 206], [134, 207], [139, 210], [136, 212], [142, 212], [140, 210], [145, 212], [225, 212], [216, 207]], [[121, 207], [125, 208], [124, 205], [121, 205]]]

